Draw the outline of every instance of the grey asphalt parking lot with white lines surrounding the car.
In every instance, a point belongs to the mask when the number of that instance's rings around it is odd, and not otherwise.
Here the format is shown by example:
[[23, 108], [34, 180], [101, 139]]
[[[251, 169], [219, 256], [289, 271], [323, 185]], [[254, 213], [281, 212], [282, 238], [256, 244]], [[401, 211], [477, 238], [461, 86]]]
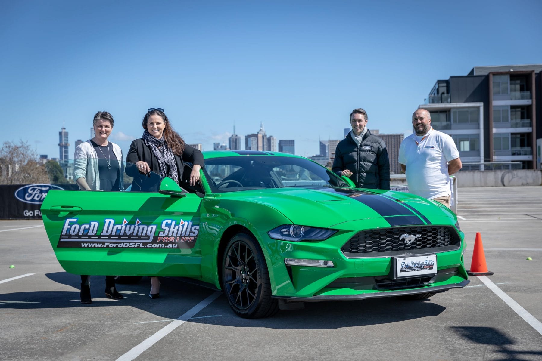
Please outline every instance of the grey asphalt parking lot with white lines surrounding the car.
[[0, 221], [0, 360], [542, 359], [542, 187], [459, 188], [457, 214], [467, 268], [480, 232], [494, 275], [422, 301], [308, 303], [257, 320], [169, 278], [159, 299], [144, 278], [111, 300], [92, 277], [81, 305], [42, 222]]

